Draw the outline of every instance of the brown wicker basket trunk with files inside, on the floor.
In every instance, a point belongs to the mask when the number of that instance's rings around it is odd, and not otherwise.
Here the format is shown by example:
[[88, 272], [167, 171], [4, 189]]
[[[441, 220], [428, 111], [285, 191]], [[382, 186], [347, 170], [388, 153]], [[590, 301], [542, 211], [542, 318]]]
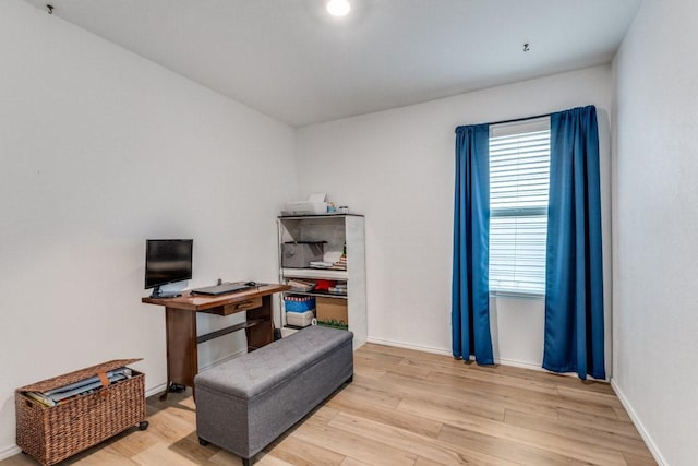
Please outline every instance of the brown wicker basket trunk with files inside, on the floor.
[[17, 446], [39, 463], [52, 465], [130, 427], [147, 428], [144, 375], [134, 370], [130, 379], [52, 407], [25, 394], [64, 386], [135, 361], [140, 359], [113, 360], [17, 389]]

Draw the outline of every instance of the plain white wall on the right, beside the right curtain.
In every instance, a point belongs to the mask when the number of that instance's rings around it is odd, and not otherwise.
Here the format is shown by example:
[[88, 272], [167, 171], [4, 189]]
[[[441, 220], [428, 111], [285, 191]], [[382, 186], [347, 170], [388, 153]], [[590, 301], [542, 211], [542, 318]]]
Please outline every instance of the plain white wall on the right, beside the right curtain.
[[697, 17], [645, 0], [614, 62], [613, 384], [672, 466], [698, 456]]

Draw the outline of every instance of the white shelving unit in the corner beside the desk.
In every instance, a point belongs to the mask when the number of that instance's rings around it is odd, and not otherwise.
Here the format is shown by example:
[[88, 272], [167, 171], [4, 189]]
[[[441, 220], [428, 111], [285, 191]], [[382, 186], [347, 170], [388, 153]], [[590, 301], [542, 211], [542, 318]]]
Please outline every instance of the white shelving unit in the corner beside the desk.
[[[349, 330], [353, 332], [353, 347], [366, 342], [366, 272], [364, 217], [356, 214], [327, 214], [278, 217], [279, 280], [290, 278], [308, 280], [334, 280], [347, 284], [347, 295], [324, 291], [287, 291], [290, 295], [306, 295], [330, 300], [346, 301]], [[347, 270], [284, 268], [281, 244], [285, 242], [324, 241], [325, 258], [347, 252]], [[286, 326], [286, 311], [281, 297], [281, 323]], [[285, 328], [285, 331], [288, 331]]]

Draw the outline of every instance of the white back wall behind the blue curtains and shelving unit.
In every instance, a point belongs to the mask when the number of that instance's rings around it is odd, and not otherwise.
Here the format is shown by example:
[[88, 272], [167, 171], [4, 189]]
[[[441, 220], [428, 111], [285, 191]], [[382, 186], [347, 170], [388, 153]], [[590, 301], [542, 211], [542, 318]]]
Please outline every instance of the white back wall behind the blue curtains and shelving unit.
[[[601, 133], [610, 315], [611, 84], [611, 68], [597, 67], [299, 130], [300, 190], [327, 191], [366, 215], [371, 340], [450, 354], [456, 126], [592, 104]], [[540, 368], [543, 301], [493, 300], [492, 316], [495, 358]]]

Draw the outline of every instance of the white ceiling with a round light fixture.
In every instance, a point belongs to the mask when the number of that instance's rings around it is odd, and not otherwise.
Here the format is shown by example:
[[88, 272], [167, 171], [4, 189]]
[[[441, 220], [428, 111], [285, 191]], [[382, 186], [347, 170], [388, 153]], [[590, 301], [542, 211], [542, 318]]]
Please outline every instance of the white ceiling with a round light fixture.
[[641, 2], [26, 1], [293, 127], [607, 63]]

